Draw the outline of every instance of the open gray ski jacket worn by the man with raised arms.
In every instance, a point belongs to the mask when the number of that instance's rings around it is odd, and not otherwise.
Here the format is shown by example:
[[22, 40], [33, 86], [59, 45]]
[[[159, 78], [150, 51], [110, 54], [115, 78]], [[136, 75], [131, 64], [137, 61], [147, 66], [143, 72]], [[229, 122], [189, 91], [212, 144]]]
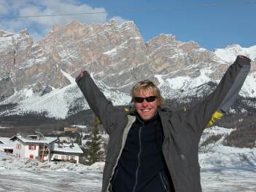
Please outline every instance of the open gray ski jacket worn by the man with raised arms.
[[[233, 104], [250, 69], [247, 57], [237, 57], [222, 77], [217, 89], [193, 108], [180, 111], [158, 110], [163, 125], [163, 155], [176, 192], [200, 192], [200, 166], [198, 143], [203, 129], [214, 114], [223, 114]], [[101, 119], [109, 134], [109, 148], [103, 173], [102, 192], [110, 190], [112, 175], [125, 145], [128, 131], [135, 121], [106, 100], [88, 72], [78, 76], [77, 84], [90, 108]], [[121, 192], [121, 191], [120, 191]]]

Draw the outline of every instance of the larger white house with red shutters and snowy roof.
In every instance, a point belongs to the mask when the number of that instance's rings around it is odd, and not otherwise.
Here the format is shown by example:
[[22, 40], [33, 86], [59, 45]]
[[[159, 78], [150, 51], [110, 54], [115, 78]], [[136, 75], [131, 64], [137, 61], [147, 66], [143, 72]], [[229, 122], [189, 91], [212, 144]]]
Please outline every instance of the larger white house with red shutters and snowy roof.
[[58, 137], [41, 137], [39, 135], [15, 135], [13, 155], [18, 158], [39, 159], [50, 161], [54, 143]]

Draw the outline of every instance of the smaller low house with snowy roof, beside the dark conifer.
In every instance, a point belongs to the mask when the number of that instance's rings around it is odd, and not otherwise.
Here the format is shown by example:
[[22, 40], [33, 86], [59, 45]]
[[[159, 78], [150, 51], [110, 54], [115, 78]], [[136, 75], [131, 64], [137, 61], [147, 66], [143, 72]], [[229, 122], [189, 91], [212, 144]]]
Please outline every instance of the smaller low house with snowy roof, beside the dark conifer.
[[52, 152], [52, 161], [69, 161], [79, 163], [79, 156], [83, 153], [77, 143], [55, 143]]

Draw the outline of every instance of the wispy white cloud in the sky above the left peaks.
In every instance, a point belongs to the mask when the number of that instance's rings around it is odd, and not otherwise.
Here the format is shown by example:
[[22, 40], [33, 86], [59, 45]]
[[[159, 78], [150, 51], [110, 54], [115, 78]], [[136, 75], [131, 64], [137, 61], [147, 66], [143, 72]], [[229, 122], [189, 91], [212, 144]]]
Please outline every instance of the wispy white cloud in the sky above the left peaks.
[[[0, 1], [0, 17], [18, 17], [28, 15], [58, 15], [58, 14], [79, 14], [79, 13], [96, 13], [106, 12], [104, 7], [90, 7], [88, 4], [81, 4], [74, 0], [44, 0], [44, 1]], [[123, 23], [125, 19], [120, 16], [114, 17], [117, 24]], [[49, 33], [53, 25], [66, 25], [71, 20], [76, 20], [79, 23], [107, 23], [111, 18], [108, 13], [89, 14], [89, 15], [64, 15], [54, 17], [25, 17], [1, 19], [0, 29], [13, 33], [28, 28], [28, 32], [35, 41], [42, 39]]]

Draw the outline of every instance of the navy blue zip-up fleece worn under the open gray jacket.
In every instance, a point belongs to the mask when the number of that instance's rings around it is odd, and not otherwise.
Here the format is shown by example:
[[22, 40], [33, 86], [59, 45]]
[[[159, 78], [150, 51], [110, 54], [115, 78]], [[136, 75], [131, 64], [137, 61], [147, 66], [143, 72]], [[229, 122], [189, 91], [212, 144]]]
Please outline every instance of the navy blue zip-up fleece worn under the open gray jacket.
[[163, 128], [160, 117], [148, 121], [136, 117], [112, 180], [115, 191], [142, 191], [164, 168]]

